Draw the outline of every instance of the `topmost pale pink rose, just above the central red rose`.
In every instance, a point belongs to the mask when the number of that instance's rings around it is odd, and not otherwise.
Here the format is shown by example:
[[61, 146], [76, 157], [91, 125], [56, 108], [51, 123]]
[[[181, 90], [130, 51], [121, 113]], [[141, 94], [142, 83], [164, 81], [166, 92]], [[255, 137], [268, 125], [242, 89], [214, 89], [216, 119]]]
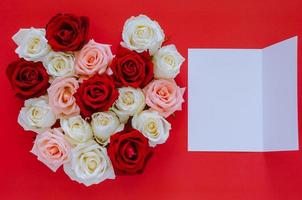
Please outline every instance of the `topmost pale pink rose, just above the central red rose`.
[[76, 74], [85, 79], [93, 74], [106, 72], [113, 55], [110, 45], [90, 40], [79, 52], [75, 53]]

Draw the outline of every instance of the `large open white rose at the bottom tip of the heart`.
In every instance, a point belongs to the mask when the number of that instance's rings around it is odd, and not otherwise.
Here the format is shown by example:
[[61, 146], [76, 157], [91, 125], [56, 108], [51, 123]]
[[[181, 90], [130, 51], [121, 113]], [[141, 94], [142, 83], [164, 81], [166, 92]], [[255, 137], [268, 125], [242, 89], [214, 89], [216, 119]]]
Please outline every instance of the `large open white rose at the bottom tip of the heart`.
[[64, 164], [64, 171], [74, 181], [90, 186], [115, 178], [106, 148], [94, 140], [77, 145], [70, 156], [71, 161]]

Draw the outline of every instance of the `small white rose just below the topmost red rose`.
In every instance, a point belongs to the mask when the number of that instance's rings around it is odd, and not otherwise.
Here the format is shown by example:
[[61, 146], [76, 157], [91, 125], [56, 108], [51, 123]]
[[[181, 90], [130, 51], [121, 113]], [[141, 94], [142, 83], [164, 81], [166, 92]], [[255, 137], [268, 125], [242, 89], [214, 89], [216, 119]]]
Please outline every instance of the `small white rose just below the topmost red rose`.
[[72, 54], [51, 51], [43, 59], [43, 65], [49, 75], [54, 77], [68, 77], [74, 75], [74, 60]]

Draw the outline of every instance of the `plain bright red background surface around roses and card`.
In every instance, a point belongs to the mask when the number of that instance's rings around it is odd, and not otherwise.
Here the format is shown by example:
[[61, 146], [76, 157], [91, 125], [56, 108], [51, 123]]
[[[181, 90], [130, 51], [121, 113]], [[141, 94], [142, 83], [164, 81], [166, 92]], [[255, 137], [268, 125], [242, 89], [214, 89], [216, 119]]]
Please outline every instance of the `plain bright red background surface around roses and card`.
[[[24, 132], [16, 121], [22, 102], [14, 97], [4, 72], [17, 58], [11, 36], [22, 27], [43, 27], [57, 12], [88, 16], [91, 37], [112, 44], [114, 50], [124, 21], [147, 14], [159, 21], [185, 57], [189, 47], [262, 48], [302, 36], [301, 0], [1, 0], [0, 199], [302, 199], [301, 151], [188, 152], [187, 103], [169, 119], [170, 138], [155, 149], [142, 175], [87, 188], [72, 182], [62, 169], [53, 173], [38, 162], [29, 153], [34, 134]], [[299, 66], [301, 60], [299, 51]], [[187, 86], [187, 62], [177, 81]]]

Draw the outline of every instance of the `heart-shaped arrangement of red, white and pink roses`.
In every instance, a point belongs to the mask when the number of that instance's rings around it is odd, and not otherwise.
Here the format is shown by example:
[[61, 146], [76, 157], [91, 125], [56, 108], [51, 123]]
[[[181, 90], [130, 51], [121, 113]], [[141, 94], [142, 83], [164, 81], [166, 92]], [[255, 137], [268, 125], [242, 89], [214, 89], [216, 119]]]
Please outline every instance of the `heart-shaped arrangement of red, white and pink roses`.
[[87, 17], [57, 14], [45, 29], [20, 29], [13, 36], [20, 59], [6, 71], [25, 100], [18, 123], [37, 133], [31, 152], [86, 186], [142, 173], [152, 148], [169, 137], [165, 118], [184, 101], [174, 81], [184, 58], [162, 46], [156, 21], [129, 18], [115, 56], [88, 39], [88, 28]]

